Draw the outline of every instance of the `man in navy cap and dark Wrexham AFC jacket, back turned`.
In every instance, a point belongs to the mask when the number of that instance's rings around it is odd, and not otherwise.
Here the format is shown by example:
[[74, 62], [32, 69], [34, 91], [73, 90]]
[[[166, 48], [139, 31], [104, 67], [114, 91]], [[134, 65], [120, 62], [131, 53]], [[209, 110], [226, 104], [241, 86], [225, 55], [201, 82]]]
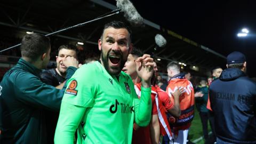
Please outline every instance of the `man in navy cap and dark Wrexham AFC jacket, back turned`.
[[245, 55], [232, 52], [209, 87], [218, 144], [256, 143], [256, 83], [245, 72]]

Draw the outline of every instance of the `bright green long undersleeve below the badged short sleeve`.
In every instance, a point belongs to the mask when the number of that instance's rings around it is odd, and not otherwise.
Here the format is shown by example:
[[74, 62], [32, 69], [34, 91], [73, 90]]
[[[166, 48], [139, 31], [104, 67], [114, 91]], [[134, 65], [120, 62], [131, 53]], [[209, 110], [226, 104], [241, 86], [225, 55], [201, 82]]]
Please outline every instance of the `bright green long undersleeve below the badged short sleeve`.
[[62, 102], [58, 124], [54, 135], [54, 143], [74, 143], [75, 131], [83, 118], [86, 107]]

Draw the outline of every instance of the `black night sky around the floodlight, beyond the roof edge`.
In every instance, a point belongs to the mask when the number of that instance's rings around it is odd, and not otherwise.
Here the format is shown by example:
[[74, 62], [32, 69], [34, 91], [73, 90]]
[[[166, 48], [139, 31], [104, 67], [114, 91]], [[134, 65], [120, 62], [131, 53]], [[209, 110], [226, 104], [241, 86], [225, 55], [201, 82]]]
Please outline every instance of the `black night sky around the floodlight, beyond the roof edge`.
[[[255, 1], [132, 1], [141, 16], [225, 56], [240, 51], [256, 77]], [[115, 3], [113, 3], [115, 4]], [[250, 35], [238, 38], [246, 27]]]

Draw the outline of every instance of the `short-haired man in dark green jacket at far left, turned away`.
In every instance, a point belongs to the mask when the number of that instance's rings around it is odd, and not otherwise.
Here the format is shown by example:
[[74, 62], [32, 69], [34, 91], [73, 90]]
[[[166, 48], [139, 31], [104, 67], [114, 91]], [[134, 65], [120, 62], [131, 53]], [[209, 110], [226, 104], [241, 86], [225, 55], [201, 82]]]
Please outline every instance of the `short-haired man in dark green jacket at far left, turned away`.
[[[46, 143], [44, 110], [60, 110], [65, 91], [43, 83], [39, 74], [50, 60], [50, 39], [41, 34], [22, 38], [21, 58], [0, 86], [2, 143]], [[66, 58], [66, 79], [75, 73], [74, 58]]]

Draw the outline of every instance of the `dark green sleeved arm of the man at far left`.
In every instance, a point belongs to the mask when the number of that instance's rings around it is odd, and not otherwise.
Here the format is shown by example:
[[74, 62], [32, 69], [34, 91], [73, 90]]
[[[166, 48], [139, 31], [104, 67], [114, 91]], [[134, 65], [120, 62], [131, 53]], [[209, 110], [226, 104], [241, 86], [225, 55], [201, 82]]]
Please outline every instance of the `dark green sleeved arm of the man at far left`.
[[[66, 79], [75, 73], [77, 68], [69, 67], [67, 69]], [[38, 77], [20, 73], [13, 79], [15, 85], [15, 95], [20, 101], [37, 108], [60, 110], [61, 99], [65, 92], [66, 86], [62, 90], [55, 89], [51, 85], [46, 85]]]

